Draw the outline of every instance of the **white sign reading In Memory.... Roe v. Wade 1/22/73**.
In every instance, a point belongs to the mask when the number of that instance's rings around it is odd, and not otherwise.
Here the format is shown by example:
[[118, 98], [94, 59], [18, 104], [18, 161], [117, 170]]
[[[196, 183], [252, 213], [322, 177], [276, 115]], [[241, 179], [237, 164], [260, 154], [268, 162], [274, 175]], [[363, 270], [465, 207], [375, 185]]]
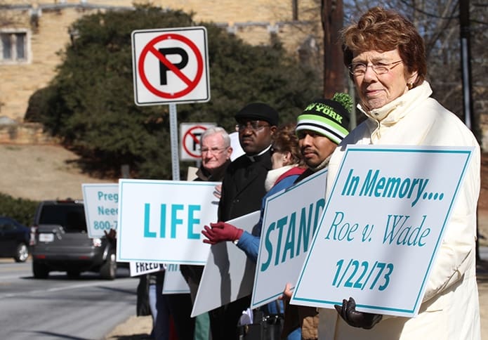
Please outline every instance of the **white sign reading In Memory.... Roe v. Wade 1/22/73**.
[[349, 145], [291, 303], [414, 317], [472, 152]]

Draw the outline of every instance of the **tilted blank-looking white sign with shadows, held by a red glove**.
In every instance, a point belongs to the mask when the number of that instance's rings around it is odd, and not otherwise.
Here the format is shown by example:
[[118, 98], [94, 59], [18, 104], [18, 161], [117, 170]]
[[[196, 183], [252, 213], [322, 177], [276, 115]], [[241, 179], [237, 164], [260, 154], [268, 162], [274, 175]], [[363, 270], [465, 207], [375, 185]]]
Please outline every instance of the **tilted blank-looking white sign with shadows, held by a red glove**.
[[[259, 221], [254, 211], [227, 223], [251, 233]], [[213, 244], [193, 304], [192, 318], [251, 294], [256, 264], [232, 242]]]

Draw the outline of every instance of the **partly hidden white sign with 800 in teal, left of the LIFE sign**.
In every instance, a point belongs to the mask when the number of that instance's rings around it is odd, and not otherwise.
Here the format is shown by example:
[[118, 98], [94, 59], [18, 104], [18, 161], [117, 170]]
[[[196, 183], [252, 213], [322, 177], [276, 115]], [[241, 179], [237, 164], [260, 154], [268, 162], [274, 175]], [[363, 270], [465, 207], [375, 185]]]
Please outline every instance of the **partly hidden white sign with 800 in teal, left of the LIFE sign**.
[[88, 237], [102, 237], [104, 230], [117, 230], [119, 185], [83, 183], [83, 202]]

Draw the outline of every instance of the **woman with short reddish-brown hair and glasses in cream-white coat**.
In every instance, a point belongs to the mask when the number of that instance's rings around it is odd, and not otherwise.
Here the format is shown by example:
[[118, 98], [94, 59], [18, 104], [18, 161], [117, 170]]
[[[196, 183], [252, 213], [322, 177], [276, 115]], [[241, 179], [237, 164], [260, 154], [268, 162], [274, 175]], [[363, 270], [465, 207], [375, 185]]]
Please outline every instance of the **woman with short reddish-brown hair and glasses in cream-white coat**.
[[[319, 314], [319, 339], [480, 339], [475, 276], [480, 147], [452, 112], [430, 98], [423, 39], [409, 20], [371, 8], [343, 30], [344, 62], [367, 119], [336, 149], [329, 163], [330, 192], [345, 145], [474, 146], [416, 318], [362, 313], [353, 299]], [[381, 207], [378, 207], [381, 209]], [[360, 301], [358, 301], [360, 303]]]

